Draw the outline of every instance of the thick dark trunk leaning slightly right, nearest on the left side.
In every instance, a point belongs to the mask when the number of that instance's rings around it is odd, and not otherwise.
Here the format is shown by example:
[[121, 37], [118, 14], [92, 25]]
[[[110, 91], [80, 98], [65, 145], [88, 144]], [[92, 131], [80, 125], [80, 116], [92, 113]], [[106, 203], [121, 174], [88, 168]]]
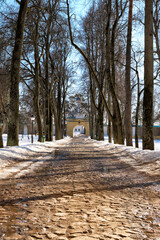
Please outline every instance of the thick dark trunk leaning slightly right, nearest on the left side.
[[15, 45], [11, 63], [10, 103], [8, 115], [8, 146], [18, 146], [19, 135], [19, 78], [20, 61], [23, 48], [23, 33], [28, 0], [21, 0], [17, 20]]

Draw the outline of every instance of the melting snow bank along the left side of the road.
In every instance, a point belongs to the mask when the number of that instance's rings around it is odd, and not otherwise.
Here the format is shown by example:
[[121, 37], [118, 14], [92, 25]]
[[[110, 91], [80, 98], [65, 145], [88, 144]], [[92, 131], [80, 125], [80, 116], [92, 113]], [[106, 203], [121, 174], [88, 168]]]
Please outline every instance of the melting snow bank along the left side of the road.
[[20, 177], [28, 171], [32, 171], [44, 161], [53, 158], [57, 143], [63, 144], [70, 138], [53, 142], [38, 142], [34, 136], [33, 144], [31, 136], [19, 136], [19, 146], [7, 147], [7, 136], [3, 135], [4, 148], [0, 148], [0, 179], [15, 175]]

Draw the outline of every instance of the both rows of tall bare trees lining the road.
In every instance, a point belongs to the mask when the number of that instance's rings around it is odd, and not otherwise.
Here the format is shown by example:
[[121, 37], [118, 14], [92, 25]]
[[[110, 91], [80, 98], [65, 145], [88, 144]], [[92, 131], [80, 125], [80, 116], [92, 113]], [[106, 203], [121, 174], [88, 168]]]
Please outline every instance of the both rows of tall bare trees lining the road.
[[[140, 97], [144, 93], [143, 148], [154, 149], [153, 84], [158, 81], [160, 63], [159, 0], [146, 0], [144, 5], [140, 1], [141, 9], [145, 7], [145, 12], [142, 11], [145, 14], [144, 54], [142, 51], [144, 86], [139, 75], [140, 63], [131, 41], [133, 20], [134, 24], [143, 22], [143, 19], [136, 18], [136, 14], [133, 15], [134, 4], [138, 1], [93, 1], [82, 21], [78, 40], [76, 34], [73, 36], [72, 33], [73, 22], [68, 0], [15, 2], [17, 7], [19, 6], [19, 13], [15, 13], [12, 8], [7, 13], [3, 12], [0, 28], [3, 33], [0, 43], [1, 63], [3, 62], [3, 65], [8, 63], [11, 72], [10, 101], [6, 111], [7, 144], [18, 145], [19, 82], [23, 82], [25, 86], [23, 108], [25, 106], [26, 111], [32, 111], [36, 117], [39, 141], [42, 139], [43, 130], [46, 140], [52, 140], [53, 115], [56, 139], [63, 136], [66, 96], [72, 76], [68, 61], [71, 42], [85, 60], [83, 67], [85, 66], [84, 72], [88, 76], [85, 90], [88, 94], [91, 137], [104, 139], [103, 123], [106, 112], [109, 140], [111, 141], [113, 132], [114, 143], [124, 144], [126, 138], [127, 145], [132, 145], [132, 103], [136, 89], [136, 129]], [[137, 15], [143, 14], [138, 12]], [[142, 62], [143, 56], [140, 59]], [[155, 81], [153, 81], [154, 62], [157, 71]], [[25, 92], [27, 95], [24, 97]], [[138, 146], [137, 130], [136, 146]]]

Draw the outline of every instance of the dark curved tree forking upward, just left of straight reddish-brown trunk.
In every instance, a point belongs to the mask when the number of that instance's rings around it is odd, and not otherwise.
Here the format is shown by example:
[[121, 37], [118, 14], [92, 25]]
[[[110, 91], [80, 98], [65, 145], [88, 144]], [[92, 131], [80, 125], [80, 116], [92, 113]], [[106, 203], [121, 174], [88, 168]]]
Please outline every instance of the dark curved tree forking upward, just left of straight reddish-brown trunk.
[[[116, 0], [115, 1], [115, 20], [113, 22], [113, 26], [111, 27], [111, 20], [109, 20], [109, 16], [111, 13], [111, 0], [108, 1], [108, 20], [107, 20], [107, 28], [106, 28], [106, 70], [107, 70], [107, 82], [109, 85], [109, 90], [112, 96], [113, 101], [113, 137], [115, 143], [122, 143], [124, 141], [124, 129], [123, 129], [123, 122], [122, 122], [122, 114], [120, 109], [120, 104], [117, 97], [116, 91], [116, 70], [115, 70], [115, 40], [116, 40], [116, 30], [118, 26], [118, 22], [123, 16], [123, 13], [126, 9], [127, 2], [124, 2], [122, 5], [122, 1]], [[121, 7], [119, 7], [121, 5]], [[112, 29], [111, 32], [111, 40], [110, 40], [110, 28]], [[110, 41], [110, 43], [109, 43]], [[110, 57], [111, 52], [111, 57]], [[109, 69], [111, 68], [111, 70]]]

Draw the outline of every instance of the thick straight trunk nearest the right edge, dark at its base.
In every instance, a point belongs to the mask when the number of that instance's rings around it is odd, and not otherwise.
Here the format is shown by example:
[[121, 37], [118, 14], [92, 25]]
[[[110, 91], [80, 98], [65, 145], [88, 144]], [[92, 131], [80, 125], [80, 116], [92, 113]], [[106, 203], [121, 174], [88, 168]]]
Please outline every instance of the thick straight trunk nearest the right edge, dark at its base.
[[153, 138], [153, 0], [145, 0], [143, 149], [154, 150]]

